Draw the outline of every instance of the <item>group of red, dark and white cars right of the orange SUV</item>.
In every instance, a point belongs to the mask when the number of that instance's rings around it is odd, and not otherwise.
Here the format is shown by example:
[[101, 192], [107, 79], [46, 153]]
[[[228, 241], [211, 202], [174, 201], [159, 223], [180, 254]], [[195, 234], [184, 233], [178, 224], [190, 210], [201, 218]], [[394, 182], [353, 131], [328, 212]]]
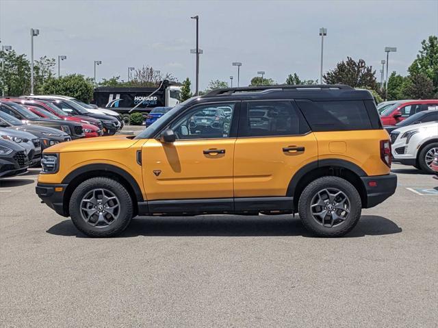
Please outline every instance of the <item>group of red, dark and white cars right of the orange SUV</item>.
[[436, 173], [438, 100], [402, 100], [378, 105], [381, 121], [391, 135], [394, 162]]

